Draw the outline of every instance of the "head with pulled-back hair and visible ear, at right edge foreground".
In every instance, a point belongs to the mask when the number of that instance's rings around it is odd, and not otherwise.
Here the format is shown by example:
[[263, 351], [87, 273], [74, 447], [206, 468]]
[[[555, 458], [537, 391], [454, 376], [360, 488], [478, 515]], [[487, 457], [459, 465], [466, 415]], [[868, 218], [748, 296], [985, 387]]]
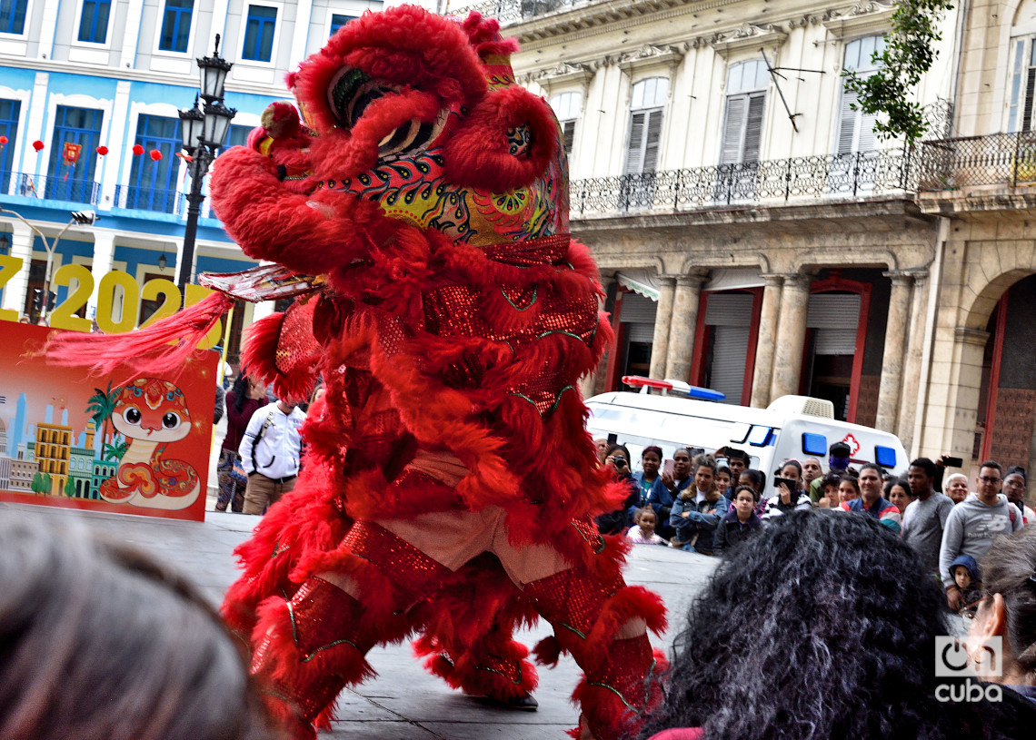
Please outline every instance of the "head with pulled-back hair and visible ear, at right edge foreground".
[[1002, 638], [1003, 672], [989, 680], [1020, 686], [1036, 701], [1036, 527], [995, 539], [981, 567], [982, 599], [965, 611], [969, 637]]

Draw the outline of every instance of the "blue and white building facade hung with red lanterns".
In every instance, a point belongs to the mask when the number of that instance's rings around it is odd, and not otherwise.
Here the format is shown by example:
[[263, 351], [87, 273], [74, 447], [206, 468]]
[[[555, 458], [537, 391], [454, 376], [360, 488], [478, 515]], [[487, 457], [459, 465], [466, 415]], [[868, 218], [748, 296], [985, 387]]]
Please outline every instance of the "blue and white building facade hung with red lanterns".
[[[53, 242], [71, 211], [93, 210], [97, 221], [73, 226], [55, 248], [56, 302], [79, 287], [76, 272], [60, 268], [81, 265], [93, 290], [76, 313], [92, 319], [99, 307], [130, 328], [146, 321], [162, 300], [156, 280], [175, 280], [183, 245], [191, 181], [177, 111], [198, 92], [195, 59], [211, 55], [220, 34], [220, 54], [234, 63], [225, 102], [237, 110], [227, 145], [242, 144], [266, 106], [290, 98], [288, 70], [349, 20], [380, 7], [367, 0], [0, 3], [0, 255], [23, 260], [0, 286], [0, 306], [35, 319], [47, 264], [35, 230]], [[207, 200], [195, 253], [193, 274], [255, 264]], [[103, 284], [113, 270], [125, 278]], [[241, 328], [269, 310], [235, 310], [231, 354]]]

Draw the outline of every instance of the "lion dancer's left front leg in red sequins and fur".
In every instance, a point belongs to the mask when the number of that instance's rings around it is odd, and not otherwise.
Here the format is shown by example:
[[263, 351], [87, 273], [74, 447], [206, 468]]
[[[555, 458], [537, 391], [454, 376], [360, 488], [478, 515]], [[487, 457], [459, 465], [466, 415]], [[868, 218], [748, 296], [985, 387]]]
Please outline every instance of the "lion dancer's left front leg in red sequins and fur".
[[314, 737], [314, 721], [329, 727], [339, 691], [372, 674], [367, 651], [405, 634], [401, 615], [450, 572], [367, 522], [353, 525], [342, 546], [315, 557], [313, 566], [314, 576], [290, 600], [262, 603], [253, 632], [252, 673], [272, 714], [298, 739]]

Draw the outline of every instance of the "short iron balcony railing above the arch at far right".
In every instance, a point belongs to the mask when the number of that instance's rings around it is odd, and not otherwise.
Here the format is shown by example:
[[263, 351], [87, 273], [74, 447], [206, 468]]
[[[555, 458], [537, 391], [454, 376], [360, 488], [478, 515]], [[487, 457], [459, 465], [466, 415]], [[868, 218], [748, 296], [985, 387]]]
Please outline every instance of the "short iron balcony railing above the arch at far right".
[[922, 190], [1036, 185], [1036, 131], [922, 142]]

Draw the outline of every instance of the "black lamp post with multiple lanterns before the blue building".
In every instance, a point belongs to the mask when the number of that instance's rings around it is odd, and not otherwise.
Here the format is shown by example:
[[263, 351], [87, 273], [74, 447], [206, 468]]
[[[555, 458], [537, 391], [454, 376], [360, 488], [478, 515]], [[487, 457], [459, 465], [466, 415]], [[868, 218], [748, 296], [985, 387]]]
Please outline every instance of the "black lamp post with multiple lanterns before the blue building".
[[[201, 91], [195, 96], [195, 105], [180, 111], [180, 139], [183, 149], [192, 157], [191, 193], [188, 194], [188, 226], [183, 235], [183, 250], [176, 265], [176, 285], [180, 289], [186, 305], [186, 285], [191, 282], [191, 266], [194, 264], [194, 242], [198, 233], [198, 216], [205, 196], [201, 193], [208, 167], [215, 158], [215, 152], [223, 146], [230, 130], [230, 121], [237, 113], [223, 105], [223, 84], [227, 72], [233, 66], [220, 56], [220, 34], [215, 35], [212, 56], [198, 59]], [[198, 106], [198, 97], [205, 102]]]

